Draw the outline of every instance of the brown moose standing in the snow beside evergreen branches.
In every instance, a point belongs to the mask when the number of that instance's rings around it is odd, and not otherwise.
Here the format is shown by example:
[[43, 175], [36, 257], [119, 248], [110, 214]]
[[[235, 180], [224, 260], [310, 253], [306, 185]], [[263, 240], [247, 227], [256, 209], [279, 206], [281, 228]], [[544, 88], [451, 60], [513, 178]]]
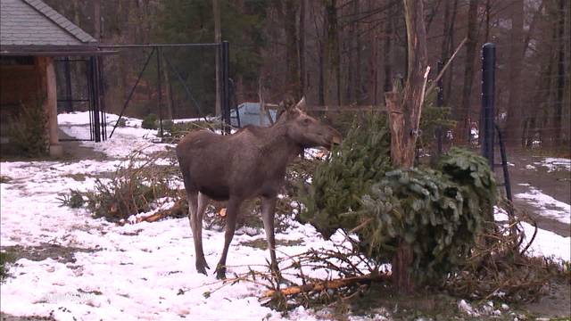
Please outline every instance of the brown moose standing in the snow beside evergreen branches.
[[308, 116], [304, 107], [305, 98], [295, 105], [285, 104], [284, 111], [269, 128], [249, 125], [228, 136], [199, 130], [187, 134], [177, 145], [197, 272], [206, 275], [206, 268], [210, 269], [204, 259], [202, 240], [203, 213], [208, 202], [228, 201], [224, 249], [215, 271], [217, 278], [225, 279], [228, 247], [234, 237], [240, 205], [247, 199], [260, 197], [271, 269], [279, 276], [274, 216], [285, 168], [304, 148], [329, 149], [341, 143], [339, 132]]

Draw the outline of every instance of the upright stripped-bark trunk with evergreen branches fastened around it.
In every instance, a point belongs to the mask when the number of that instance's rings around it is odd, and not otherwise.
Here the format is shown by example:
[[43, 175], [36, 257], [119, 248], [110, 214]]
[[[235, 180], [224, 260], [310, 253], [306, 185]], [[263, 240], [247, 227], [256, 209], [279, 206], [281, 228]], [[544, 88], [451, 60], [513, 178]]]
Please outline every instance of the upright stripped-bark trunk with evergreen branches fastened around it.
[[[389, 127], [391, 129], [391, 161], [395, 167], [411, 168], [418, 137], [418, 124], [426, 88], [427, 54], [423, 3], [403, 0], [408, 40], [408, 75], [402, 96], [393, 87], [385, 93]], [[410, 244], [399, 241], [393, 257], [393, 285], [399, 292], [414, 290], [410, 268], [414, 253]]]

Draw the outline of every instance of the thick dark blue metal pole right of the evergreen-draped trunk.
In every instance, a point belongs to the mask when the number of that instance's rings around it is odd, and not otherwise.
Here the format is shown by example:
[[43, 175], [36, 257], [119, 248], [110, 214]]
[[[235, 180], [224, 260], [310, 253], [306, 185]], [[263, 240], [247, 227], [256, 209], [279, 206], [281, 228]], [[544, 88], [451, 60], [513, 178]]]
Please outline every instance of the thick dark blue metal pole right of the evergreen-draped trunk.
[[[493, 143], [494, 143], [494, 93], [495, 93], [495, 65], [496, 45], [484, 44], [482, 47], [482, 113], [484, 120], [484, 139], [482, 140], [482, 155], [488, 159], [493, 169]], [[480, 127], [482, 128], [482, 127]]]

